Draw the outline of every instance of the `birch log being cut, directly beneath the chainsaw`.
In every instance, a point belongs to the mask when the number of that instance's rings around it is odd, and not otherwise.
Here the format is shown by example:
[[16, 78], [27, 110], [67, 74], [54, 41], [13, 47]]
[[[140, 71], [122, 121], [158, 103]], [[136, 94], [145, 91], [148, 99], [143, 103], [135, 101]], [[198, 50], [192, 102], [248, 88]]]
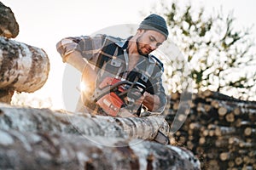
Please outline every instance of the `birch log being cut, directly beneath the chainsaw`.
[[[21, 132], [76, 133], [124, 139], [153, 140], [160, 130], [169, 135], [163, 116], [111, 117], [0, 105], [0, 128]], [[99, 141], [100, 142], [100, 141]]]

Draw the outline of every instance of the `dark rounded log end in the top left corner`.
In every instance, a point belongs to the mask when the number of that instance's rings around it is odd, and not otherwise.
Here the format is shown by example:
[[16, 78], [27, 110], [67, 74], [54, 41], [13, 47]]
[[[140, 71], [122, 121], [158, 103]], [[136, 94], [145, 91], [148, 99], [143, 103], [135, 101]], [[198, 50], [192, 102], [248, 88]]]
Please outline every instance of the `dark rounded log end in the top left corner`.
[[19, 34], [19, 25], [11, 8], [0, 2], [0, 37], [15, 38]]

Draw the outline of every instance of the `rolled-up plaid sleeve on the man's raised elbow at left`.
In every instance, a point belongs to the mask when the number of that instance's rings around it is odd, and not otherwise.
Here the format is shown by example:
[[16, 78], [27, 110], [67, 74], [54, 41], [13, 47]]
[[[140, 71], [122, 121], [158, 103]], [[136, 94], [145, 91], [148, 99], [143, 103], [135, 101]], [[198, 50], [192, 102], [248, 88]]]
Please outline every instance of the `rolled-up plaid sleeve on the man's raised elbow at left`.
[[57, 42], [56, 48], [61, 54], [63, 62], [67, 61], [67, 55], [78, 51], [83, 58], [90, 60], [102, 48], [105, 35], [96, 35], [95, 37], [65, 37]]

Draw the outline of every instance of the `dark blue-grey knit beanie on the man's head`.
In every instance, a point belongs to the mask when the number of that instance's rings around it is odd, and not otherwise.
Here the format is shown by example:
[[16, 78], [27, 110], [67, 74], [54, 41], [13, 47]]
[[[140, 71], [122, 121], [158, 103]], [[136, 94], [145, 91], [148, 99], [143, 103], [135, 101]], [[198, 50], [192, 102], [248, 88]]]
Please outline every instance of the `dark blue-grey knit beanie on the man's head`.
[[166, 26], [166, 20], [158, 14], [150, 14], [140, 24], [138, 29], [154, 30], [163, 34], [166, 39], [168, 37], [168, 29]]

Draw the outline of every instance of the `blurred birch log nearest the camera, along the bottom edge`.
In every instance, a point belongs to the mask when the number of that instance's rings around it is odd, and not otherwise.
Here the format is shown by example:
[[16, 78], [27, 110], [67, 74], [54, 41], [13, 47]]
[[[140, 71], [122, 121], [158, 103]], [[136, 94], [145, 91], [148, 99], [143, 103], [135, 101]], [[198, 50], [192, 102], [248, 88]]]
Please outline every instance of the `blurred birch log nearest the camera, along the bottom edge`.
[[201, 169], [189, 150], [149, 141], [101, 138], [102, 145], [78, 135], [15, 130], [0, 130], [0, 137], [1, 169]]

